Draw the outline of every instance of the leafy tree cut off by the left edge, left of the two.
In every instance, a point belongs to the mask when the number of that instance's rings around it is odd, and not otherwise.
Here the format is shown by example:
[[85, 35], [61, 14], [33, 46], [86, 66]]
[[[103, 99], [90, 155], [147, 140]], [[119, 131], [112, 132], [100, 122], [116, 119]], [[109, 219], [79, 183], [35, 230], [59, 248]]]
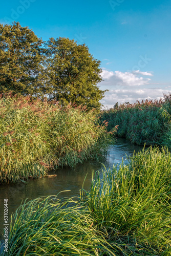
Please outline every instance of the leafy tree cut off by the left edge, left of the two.
[[0, 24], [0, 93], [46, 93], [42, 43], [28, 27]]

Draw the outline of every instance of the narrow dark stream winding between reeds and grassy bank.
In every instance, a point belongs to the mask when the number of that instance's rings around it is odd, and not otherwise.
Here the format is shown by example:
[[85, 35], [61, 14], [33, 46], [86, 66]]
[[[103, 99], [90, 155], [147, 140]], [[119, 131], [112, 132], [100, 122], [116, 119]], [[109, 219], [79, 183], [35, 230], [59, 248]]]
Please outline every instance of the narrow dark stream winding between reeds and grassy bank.
[[[108, 169], [112, 168], [113, 164], [120, 164], [125, 160], [126, 155], [132, 156], [134, 151], [138, 152], [142, 147], [133, 145], [130, 141], [118, 138], [114, 146], [110, 147], [109, 155], [101, 161]], [[18, 183], [10, 185], [0, 185], [0, 240], [2, 241], [3, 225], [4, 225], [4, 199], [8, 199], [8, 217], [10, 224], [10, 216], [17, 207], [26, 200], [26, 198], [35, 199], [40, 196], [57, 195], [62, 192], [59, 197], [73, 197], [79, 194], [79, 189], [82, 188], [84, 178], [84, 188], [89, 190], [92, 180], [92, 170], [100, 170], [103, 165], [90, 161], [84, 164], [79, 164], [75, 168], [63, 168], [51, 172], [56, 174], [56, 177], [45, 177], [36, 180], [29, 179], [27, 183]], [[125, 164], [127, 161], [125, 160]]]

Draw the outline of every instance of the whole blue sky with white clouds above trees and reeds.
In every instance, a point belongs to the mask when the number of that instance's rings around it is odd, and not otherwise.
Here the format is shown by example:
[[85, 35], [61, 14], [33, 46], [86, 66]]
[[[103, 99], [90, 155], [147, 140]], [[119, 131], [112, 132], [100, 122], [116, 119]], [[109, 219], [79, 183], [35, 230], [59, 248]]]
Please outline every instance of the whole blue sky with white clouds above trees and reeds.
[[171, 91], [170, 13], [170, 0], [8, 0], [1, 3], [0, 23], [18, 21], [43, 40], [85, 42], [101, 61], [99, 87], [109, 89], [101, 102], [110, 108]]

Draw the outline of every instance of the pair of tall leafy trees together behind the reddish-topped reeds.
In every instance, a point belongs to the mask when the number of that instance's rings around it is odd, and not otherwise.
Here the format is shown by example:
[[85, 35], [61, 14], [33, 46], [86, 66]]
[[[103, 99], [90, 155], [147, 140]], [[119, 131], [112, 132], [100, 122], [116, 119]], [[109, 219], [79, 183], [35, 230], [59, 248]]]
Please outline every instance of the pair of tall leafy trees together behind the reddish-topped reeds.
[[30, 95], [100, 109], [100, 61], [69, 38], [42, 41], [17, 22], [0, 24], [0, 93]]

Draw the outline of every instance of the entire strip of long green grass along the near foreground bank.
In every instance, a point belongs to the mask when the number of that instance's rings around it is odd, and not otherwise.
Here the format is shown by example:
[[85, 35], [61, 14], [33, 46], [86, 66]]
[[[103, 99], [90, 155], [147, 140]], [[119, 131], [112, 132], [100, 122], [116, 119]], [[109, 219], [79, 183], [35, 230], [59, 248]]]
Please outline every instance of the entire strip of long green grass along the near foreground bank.
[[171, 154], [150, 147], [129, 161], [97, 173], [77, 199], [25, 202], [12, 216], [2, 256], [169, 256]]

